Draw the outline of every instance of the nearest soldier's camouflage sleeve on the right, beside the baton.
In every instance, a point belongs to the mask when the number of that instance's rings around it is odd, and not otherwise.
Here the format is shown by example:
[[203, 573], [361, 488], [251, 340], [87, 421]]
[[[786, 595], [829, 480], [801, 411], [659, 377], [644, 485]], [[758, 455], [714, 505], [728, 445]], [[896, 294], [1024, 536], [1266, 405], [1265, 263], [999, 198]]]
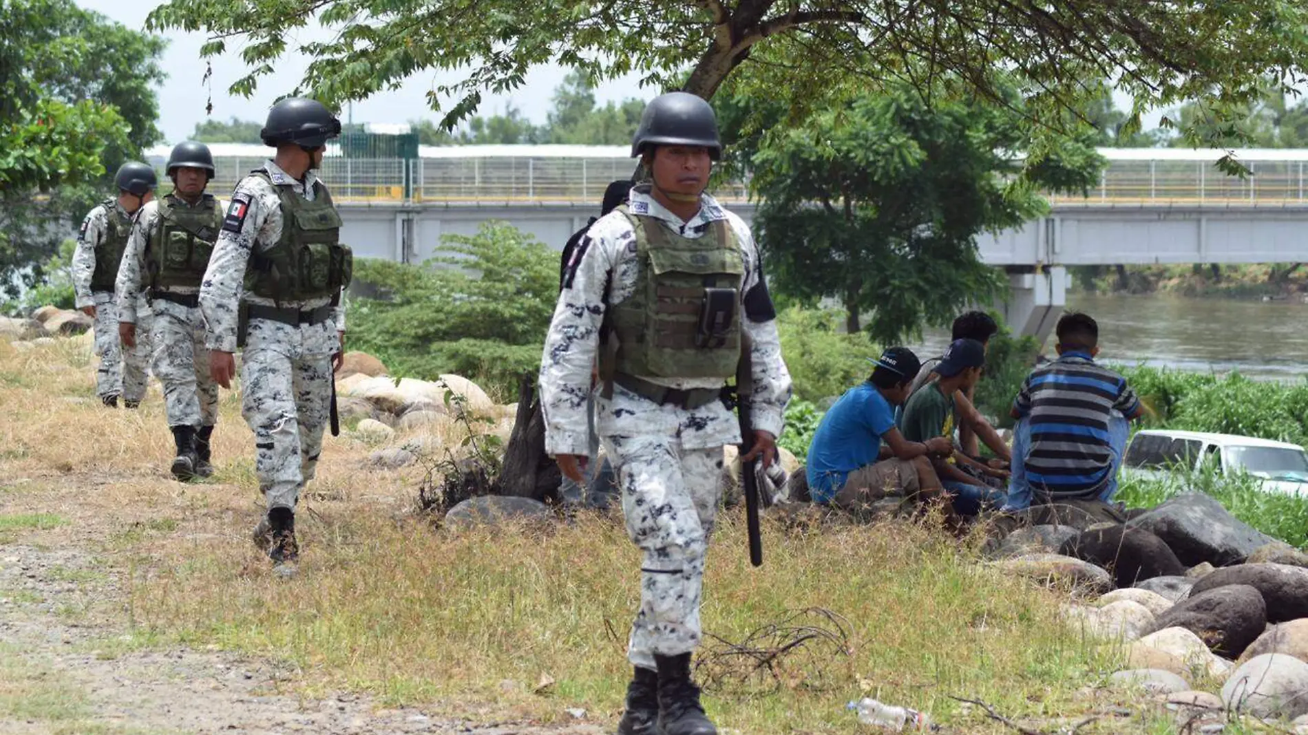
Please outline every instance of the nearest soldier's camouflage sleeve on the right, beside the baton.
[[744, 220], [727, 213], [727, 221], [740, 239], [746, 276], [742, 285], [743, 319], [740, 323], [753, 344], [749, 354], [753, 370], [751, 415], [753, 428], [781, 436], [785, 425], [786, 404], [793, 392], [790, 370], [781, 357], [781, 333], [777, 331], [776, 313], [763, 279], [763, 260]]

